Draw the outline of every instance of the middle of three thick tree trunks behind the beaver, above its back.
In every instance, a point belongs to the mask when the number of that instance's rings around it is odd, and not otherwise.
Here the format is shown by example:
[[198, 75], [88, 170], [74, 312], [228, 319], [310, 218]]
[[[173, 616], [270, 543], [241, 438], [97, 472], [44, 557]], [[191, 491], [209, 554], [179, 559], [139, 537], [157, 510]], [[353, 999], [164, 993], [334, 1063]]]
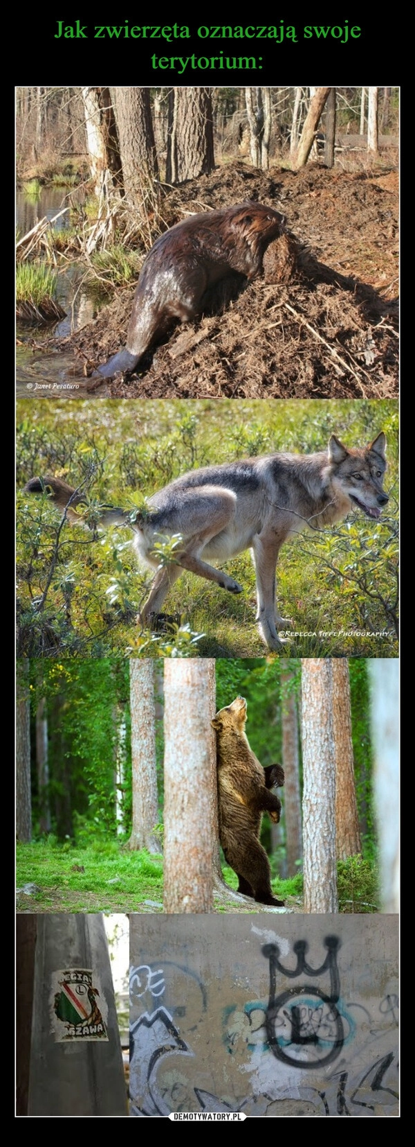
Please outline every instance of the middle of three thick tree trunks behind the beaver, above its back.
[[149, 181], [159, 178], [149, 87], [113, 87], [122, 182], [129, 202], [141, 209]]

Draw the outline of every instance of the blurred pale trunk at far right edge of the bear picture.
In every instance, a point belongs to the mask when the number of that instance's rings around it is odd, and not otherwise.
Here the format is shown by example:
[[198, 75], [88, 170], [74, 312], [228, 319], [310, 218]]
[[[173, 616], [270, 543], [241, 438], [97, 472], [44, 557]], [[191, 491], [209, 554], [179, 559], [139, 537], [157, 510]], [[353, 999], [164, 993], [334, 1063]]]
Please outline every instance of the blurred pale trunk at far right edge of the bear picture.
[[382, 912], [399, 912], [399, 662], [369, 661]]

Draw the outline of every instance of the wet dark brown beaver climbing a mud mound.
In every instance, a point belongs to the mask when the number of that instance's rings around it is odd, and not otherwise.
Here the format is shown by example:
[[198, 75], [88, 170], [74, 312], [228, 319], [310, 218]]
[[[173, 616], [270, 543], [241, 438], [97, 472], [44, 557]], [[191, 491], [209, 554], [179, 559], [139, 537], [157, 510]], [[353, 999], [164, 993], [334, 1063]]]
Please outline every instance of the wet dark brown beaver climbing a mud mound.
[[254, 279], [284, 225], [279, 211], [262, 203], [240, 203], [191, 216], [160, 235], [142, 266], [127, 346], [97, 367], [93, 379], [131, 373], [174, 319], [186, 322], [203, 310], [208, 291], [220, 280]]

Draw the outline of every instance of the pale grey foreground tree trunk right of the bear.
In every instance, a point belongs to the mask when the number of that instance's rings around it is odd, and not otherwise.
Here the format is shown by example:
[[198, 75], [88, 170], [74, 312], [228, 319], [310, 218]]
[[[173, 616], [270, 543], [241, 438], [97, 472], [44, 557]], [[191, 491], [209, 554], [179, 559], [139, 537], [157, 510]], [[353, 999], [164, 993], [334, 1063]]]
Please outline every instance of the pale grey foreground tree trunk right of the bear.
[[337, 912], [332, 662], [302, 660], [304, 912]]

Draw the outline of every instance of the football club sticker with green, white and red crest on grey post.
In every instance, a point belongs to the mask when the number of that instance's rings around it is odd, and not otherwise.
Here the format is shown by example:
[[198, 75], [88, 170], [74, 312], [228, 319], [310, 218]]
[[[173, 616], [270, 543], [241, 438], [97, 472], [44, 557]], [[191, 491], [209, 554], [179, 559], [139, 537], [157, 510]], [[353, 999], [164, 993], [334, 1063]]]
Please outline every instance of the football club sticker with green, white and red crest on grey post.
[[53, 1035], [59, 1044], [107, 1040], [107, 1007], [95, 972], [90, 968], [54, 972], [50, 1020]]

